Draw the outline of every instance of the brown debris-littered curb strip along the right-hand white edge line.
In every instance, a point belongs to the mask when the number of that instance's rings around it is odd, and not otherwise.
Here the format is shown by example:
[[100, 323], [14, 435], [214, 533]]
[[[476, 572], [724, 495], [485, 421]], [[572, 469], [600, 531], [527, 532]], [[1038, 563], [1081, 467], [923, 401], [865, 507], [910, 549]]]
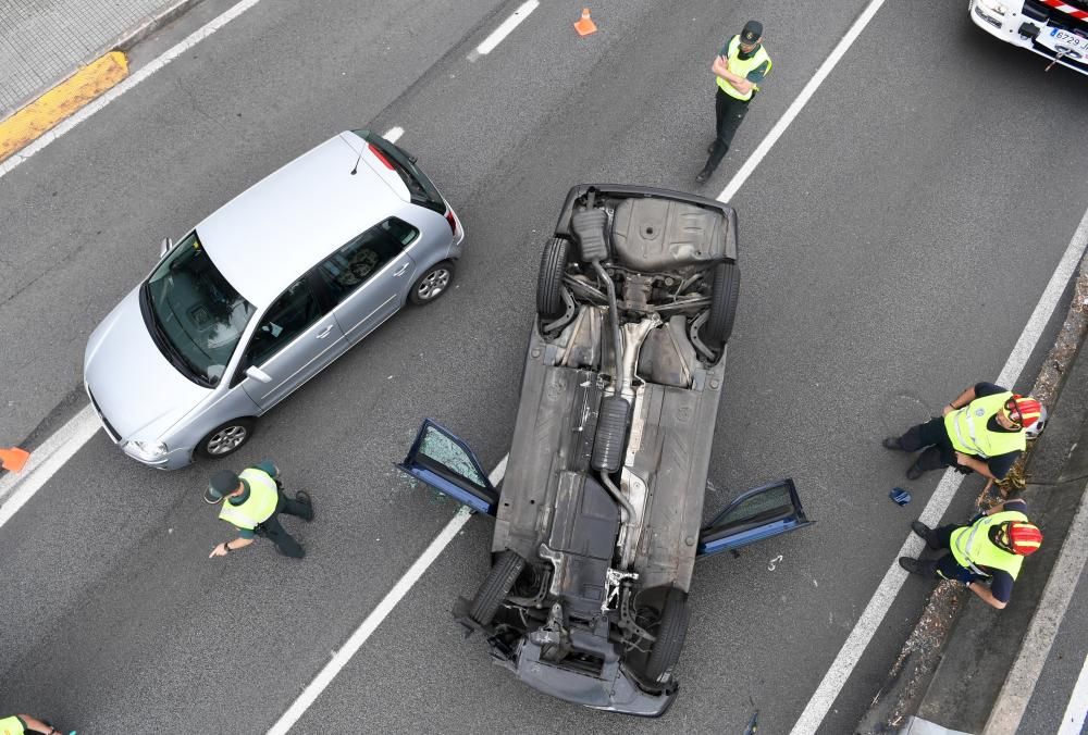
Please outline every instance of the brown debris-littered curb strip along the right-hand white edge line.
[[[1080, 260], [1068, 313], [1031, 389], [1034, 396], [1052, 409], [1056, 406], [1065, 381], [1072, 372], [1071, 366], [1077, 360], [1086, 336], [1088, 336], [1088, 254]], [[1034, 451], [1034, 447], [1029, 450]], [[1030, 456], [1027, 456], [1023, 462], [1029, 459]], [[981, 507], [984, 502], [989, 506], [991, 501], [999, 499], [997, 495], [989, 497], [987, 495], [984, 491], [976, 506]], [[1061, 533], [1055, 536], [1058, 536], [1055, 540], [1064, 540], [1065, 535]], [[1053, 563], [1053, 557], [1049, 561]], [[1049, 578], [1050, 568], [1039, 571]], [[855, 727], [856, 733], [866, 735], [902, 733], [905, 732], [904, 728], [912, 726], [915, 727], [912, 732], [922, 732], [917, 726], [919, 722], [925, 721], [919, 721], [914, 715], [925, 715], [924, 702], [931, 694], [931, 684], [938, 674], [938, 667], [942, 664], [942, 656], [952, 634], [955, 632], [960, 635], [972, 635], [970, 632], [955, 630], [969, 597], [963, 585], [951, 582], [941, 582], [937, 585], [883, 686]], [[986, 641], [980, 640], [979, 644], [985, 645]]]

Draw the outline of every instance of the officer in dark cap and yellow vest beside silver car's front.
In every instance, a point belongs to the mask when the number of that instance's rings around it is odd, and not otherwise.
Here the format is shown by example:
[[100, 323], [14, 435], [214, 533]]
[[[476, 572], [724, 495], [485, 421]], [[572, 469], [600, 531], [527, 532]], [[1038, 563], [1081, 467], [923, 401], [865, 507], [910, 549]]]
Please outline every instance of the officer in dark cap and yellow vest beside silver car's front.
[[301, 490], [295, 493], [294, 499], [285, 496], [279, 477], [280, 469], [267, 460], [246, 468], [242, 474], [223, 470], [211, 476], [208, 489], [205, 490], [205, 500], [214, 504], [226, 498], [219, 516], [238, 527], [238, 537], [217, 544], [208, 555], [209, 559], [225, 557], [231, 551], [249, 546], [256, 535], [271, 539], [284, 556], [295, 559], [306, 556], [306, 551], [283, 530], [276, 516], [287, 513], [312, 521], [313, 502], [309, 494]]

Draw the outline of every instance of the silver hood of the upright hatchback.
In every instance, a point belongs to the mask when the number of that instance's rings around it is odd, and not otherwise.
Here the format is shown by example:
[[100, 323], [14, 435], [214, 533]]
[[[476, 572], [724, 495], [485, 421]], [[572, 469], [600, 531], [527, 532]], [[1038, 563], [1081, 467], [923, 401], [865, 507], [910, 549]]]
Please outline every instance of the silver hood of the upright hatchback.
[[87, 341], [84, 381], [107, 423], [123, 440], [156, 440], [208, 397], [170, 364], [144, 324], [133, 289]]

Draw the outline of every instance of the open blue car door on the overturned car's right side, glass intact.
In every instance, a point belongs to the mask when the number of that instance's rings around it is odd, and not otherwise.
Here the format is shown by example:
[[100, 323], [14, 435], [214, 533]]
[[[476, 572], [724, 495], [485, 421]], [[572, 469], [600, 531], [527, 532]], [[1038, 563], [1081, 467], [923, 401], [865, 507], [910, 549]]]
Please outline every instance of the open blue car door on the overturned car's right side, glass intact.
[[733, 500], [700, 531], [695, 556], [739, 549], [809, 524], [792, 479], [767, 483]]

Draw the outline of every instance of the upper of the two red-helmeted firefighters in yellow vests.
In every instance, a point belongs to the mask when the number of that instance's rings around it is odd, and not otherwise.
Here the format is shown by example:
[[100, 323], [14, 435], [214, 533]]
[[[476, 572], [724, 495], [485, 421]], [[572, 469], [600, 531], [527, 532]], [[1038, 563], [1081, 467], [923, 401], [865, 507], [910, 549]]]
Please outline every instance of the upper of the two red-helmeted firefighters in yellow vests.
[[1046, 421], [1047, 410], [1030, 396], [977, 383], [947, 404], [940, 419], [888, 437], [883, 446], [900, 451], [926, 448], [907, 469], [910, 479], [947, 466], [1003, 479], [1027, 446], [1027, 436], [1038, 434]]

